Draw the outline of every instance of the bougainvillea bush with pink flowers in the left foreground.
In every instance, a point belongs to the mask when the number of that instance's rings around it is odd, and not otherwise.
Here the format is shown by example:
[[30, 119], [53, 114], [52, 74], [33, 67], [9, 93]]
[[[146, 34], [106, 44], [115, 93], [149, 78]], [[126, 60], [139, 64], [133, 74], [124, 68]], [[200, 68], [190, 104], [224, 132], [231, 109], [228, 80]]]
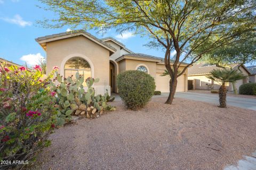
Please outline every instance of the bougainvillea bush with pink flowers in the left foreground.
[[42, 69], [0, 65], [0, 169], [21, 168], [50, 145], [57, 111]]

